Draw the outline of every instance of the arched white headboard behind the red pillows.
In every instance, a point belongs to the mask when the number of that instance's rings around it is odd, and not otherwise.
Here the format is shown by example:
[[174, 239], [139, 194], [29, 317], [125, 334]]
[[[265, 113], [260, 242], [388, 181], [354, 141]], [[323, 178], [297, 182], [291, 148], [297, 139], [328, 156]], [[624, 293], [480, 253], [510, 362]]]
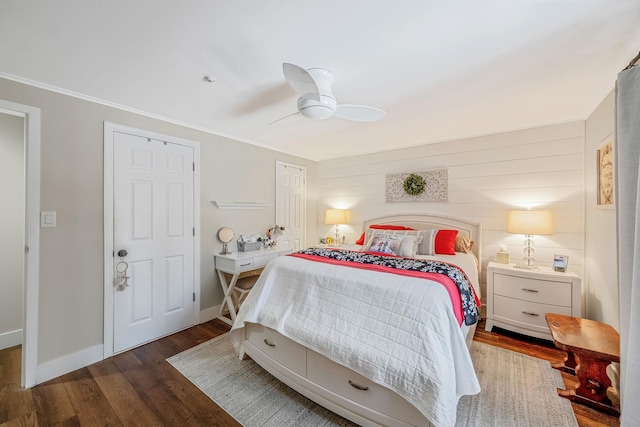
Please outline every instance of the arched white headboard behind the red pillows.
[[473, 253], [479, 261], [482, 261], [482, 225], [480, 223], [428, 213], [394, 214], [365, 220], [362, 224], [362, 230], [366, 231], [372, 224], [404, 225], [416, 230], [433, 230], [434, 228], [458, 230], [461, 236], [473, 241]]

